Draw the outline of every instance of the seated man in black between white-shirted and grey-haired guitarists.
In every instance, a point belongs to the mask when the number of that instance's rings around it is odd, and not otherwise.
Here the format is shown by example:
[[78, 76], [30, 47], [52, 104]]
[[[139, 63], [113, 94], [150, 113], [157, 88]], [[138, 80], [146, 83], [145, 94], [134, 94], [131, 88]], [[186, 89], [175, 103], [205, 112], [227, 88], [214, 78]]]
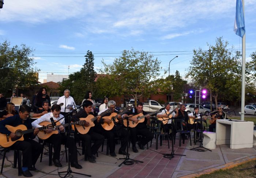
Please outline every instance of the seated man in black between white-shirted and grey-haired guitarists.
[[[83, 110], [79, 111], [76, 115], [72, 117], [72, 121], [79, 121], [79, 118], [86, 118], [88, 115], [93, 115], [91, 109], [93, 107], [93, 102], [89, 100], [84, 100], [83, 102]], [[98, 120], [101, 119], [101, 116], [98, 116]], [[89, 122], [86, 122], [84, 126], [89, 126]], [[94, 121], [94, 124], [97, 124], [97, 120]], [[77, 130], [76, 130], [77, 132]], [[102, 142], [104, 141], [104, 136], [93, 131], [93, 128], [90, 128], [89, 132], [86, 134], [78, 133], [78, 137], [80, 140], [84, 140], [85, 150], [87, 155], [87, 160], [91, 163], [95, 163], [96, 157], [94, 156]], [[91, 141], [94, 141], [93, 146], [91, 146]]]

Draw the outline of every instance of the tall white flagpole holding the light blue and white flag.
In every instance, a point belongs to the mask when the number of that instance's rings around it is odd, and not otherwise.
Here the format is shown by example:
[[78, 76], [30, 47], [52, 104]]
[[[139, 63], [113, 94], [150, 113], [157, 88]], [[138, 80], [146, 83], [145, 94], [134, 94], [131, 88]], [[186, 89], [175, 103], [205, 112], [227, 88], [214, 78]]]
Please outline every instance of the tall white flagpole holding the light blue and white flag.
[[[244, 0], [242, 0], [244, 12]], [[245, 103], [245, 34], [242, 38], [242, 91], [241, 91], [241, 120], [244, 120]]]

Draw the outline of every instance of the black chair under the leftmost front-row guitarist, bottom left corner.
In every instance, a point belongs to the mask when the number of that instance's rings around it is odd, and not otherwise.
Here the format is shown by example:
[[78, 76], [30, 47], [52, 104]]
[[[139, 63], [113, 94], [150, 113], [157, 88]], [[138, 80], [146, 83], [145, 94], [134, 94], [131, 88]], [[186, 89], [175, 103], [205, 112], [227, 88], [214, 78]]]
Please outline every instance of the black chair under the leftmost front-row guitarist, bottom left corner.
[[[2, 166], [1, 166], [1, 174], [3, 173], [3, 167], [4, 167], [4, 159], [5, 159], [5, 154], [6, 152], [9, 152], [13, 149], [11, 148], [4, 148], [3, 150], [3, 161], [2, 161]], [[18, 176], [22, 175], [22, 151], [21, 150], [13, 150], [14, 151], [14, 164], [13, 167], [17, 167], [17, 160], [18, 160]]]

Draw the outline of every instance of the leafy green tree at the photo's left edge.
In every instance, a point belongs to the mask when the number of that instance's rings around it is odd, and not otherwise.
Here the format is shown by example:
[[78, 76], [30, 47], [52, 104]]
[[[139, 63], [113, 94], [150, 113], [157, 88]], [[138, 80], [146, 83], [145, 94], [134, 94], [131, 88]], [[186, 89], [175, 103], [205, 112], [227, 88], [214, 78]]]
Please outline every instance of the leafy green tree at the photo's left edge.
[[11, 47], [7, 40], [0, 43], [0, 92], [37, 84], [35, 73], [39, 70], [30, 57], [32, 52], [25, 44]]

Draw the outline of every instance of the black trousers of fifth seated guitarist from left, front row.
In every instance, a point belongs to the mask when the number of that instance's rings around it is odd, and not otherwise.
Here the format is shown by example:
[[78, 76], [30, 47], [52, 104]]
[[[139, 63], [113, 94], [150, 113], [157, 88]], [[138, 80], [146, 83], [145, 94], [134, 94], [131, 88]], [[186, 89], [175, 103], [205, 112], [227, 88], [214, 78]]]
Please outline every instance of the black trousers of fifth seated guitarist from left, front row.
[[150, 140], [152, 140], [154, 138], [154, 134], [152, 132], [150, 132], [150, 130], [146, 127], [145, 128], [133, 127], [133, 128], [130, 128], [130, 130], [131, 130], [132, 147], [136, 147], [137, 135], [144, 136], [144, 137], [142, 137], [142, 140], [140, 141], [142, 146], [146, 145]]

